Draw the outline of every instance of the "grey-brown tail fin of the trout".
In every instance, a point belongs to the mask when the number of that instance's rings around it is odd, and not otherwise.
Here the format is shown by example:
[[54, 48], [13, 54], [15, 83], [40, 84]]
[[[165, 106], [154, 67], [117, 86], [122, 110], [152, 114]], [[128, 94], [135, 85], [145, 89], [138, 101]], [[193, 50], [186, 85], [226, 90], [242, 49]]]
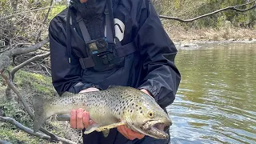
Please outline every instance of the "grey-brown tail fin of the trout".
[[35, 96], [33, 99], [34, 106], [34, 133], [38, 132], [42, 123], [46, 121], [48, 110], [46, 109], [48, 99], [42, 98], [42, 96]]

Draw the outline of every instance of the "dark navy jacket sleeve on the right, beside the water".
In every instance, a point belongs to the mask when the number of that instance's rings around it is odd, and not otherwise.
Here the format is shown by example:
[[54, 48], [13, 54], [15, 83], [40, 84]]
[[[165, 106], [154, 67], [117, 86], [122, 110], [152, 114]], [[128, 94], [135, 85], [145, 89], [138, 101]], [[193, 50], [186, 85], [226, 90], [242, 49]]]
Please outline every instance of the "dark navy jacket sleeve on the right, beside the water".
[[146, 10], [141, 10], [141, 27], [135, 38], [136, 46], [142, 57], [142, 79], [138, 89], [149, 90], [154, 99], [162, 107], [174, 102], [175, 94], [181, 80], [181, 75], [174, 65], [177, 49], [170, 40], [148, 0]]

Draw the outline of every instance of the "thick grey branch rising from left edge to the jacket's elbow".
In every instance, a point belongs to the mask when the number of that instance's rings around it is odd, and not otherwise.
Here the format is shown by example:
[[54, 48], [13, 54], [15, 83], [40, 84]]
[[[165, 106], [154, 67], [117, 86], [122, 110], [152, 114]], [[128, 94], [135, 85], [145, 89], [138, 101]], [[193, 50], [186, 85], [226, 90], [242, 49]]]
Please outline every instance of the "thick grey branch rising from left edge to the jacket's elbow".
[[12, 49], [7, 50], [0, 54], [0, 70], [4, 70], [7, 66], [10, 64], [10, 57], [20, 55], [20, 54], [26, 54], [34, 50], [38, 50], [40, 47], [45, 45], [47, 42], [49, 42], [49, 38], [44, 39], [42, 42], [39, 42], [35, 44], [34, 46], [29, 46], [26, 48], [18, 48], [18, 49]]

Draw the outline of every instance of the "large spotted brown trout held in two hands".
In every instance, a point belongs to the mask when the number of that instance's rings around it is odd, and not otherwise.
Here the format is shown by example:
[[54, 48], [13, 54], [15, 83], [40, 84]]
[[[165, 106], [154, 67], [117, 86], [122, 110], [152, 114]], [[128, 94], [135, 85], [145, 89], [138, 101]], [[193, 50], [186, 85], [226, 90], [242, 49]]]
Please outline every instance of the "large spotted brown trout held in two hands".
[[85, 134], [94, 130], [107, 136], [109, 130], [126, 125], [131, 130], [153, 138], [167, 139], [165, 130], [172, 124], [168, 114], [141, 90], [126, 86], [110, 86], [107, 90], [82, 94], [65, 93], [58, 98], [34, 97], [34, 132], [54, 114], [70, 114], [82, 108], [90, 113], [96, 124], [86, 128]]

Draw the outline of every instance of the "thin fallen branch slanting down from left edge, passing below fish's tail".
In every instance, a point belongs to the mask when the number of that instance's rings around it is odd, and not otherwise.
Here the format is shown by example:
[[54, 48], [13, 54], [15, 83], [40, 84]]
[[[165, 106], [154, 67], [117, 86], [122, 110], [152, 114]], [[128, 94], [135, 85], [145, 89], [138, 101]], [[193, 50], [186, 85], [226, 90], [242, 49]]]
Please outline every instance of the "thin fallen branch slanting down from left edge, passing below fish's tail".
[[[19, 100], [22, 102], [22, 105], [24, 106], [26, 112], [30, 115], [30, 118], [34, 120], [34, 113], [32, 112], [32, 110], [30, 109], [29, 105], [26, 103], [26, 101], [24, 100], [24, 98], [22, 97], [22, 94], [19, 93], [19, 91], [17, 90], [17, 88], [14, 86], [10, 73], [9, 73], [9, 77], [8, 78], [5, 74], [3, 74], [3, 70], [1, 71], [1, 76], [2, 78], [4, 78], [4, 80], [6, 81], [7, 85], [10, 87], [11, 90], [14, 90], [14, 93], [17, 94]], [[60, 138], [52, 133], [50, 133], [48, 130], [43, 129], [42, 127], [40, 128], [40, 130], [42, 131], [42, 133], [47, 134], [48, 136], [50, 136], [51, 140], [54, 141], [61, 141], [61, 142], [67, 142], [67, 143], [74, 143], [66, 138]]]

